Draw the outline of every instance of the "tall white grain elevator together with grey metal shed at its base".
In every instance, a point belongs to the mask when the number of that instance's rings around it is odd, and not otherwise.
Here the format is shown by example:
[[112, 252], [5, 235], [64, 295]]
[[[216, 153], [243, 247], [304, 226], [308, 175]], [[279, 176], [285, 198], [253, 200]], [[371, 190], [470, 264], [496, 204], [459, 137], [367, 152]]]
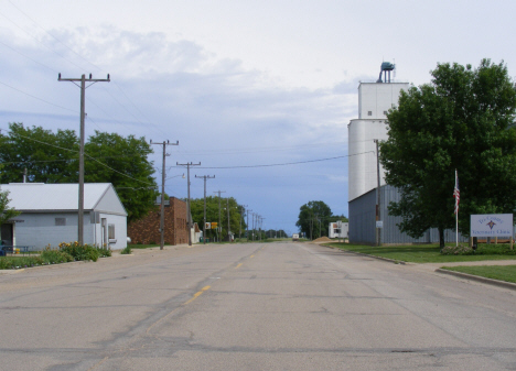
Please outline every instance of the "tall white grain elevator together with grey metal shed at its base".
[[[413, 239], [399, 230], [399, 217], [388, 212], [391, 201], [400, 200], [397, 188], [385, 184], [385, 173], [380, 165], [378, 189], [377, 153], [375, 140], [388, 139], [387, 113], [396, 108], [402, 90], [408, 90], [408, 83], [391, 83], [390, 74], [395, 66], [388, 62], [381, 64], [380, 76], [376, 83], [361, 83], [358, 86], [358, 119], [351, 120], [348, 130], [348, 241], [351, 243], [376, 243], [376, 219], [379, 210], [381, 228], [380, 244], [439, 242], [437, 229], [424, 232]], [[384, 79], [381, 79], [384, 74]], [[378, 192], [380, 205], [377, 206]], [[450, 190], [451, 197], [451, 190]], [[445, 241], [454, 241], [455, 233], [444, 232]], [[461, 241], [465, 239], [460, 236]]]

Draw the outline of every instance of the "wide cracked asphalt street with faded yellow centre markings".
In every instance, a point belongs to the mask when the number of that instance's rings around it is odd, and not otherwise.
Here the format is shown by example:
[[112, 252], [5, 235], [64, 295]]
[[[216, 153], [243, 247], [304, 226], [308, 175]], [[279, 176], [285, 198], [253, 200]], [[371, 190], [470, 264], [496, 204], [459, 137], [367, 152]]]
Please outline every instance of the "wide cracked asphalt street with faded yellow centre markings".
[[1, 370], [516, 370], [516, 292], [310, 243], [0, 272]]

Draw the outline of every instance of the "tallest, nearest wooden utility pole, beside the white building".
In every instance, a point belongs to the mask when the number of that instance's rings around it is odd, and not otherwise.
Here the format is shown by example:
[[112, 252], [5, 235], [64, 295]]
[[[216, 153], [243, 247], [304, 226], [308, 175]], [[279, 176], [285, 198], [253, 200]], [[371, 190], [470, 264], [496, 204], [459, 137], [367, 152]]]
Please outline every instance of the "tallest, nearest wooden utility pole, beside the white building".
[[[57, 81], [80, 81], [80, 145], [79, 145], [79, 189], [78, 189], [78, 220], [77, 220], [77, 242], [79, 245], [84, 244], [84, 118], [85, 113], [85, 101], [86, 101], [86, 88], [90, 87], [95, 83], [109, 83], [109, 74], [106, 79], [104, 78], [92, 78], [89, 74], [89, 84], [86, 86], [86, 76], [82, 75], [80, 78], [61, 78], [61, 73], [57, 76]], [[78, 85], [77, 85], [78, 86]]]

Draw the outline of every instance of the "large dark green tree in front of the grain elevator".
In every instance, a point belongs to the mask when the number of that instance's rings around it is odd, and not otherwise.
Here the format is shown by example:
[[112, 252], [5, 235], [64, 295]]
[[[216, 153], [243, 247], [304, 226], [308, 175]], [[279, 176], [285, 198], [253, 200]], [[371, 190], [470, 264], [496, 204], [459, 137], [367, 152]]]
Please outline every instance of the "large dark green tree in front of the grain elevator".
[[401, 199], [389, 206], [401, 231], [413, 238], [454, 228], [452, 198], [459, 172], [461, 232], [470, 214], [513, 212], [516, 200], [516, 88], [503, 63], [438, 64], [431, 84], [401, 92], [387, 114], [389, 139], [380, 143], [386, 183]]

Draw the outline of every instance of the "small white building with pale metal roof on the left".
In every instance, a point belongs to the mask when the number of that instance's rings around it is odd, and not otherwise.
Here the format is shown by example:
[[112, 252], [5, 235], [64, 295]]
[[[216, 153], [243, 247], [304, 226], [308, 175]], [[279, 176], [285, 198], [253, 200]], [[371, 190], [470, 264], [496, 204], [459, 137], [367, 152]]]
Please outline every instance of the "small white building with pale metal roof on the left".
[[[4, 244], [31, 247], [77, 241], [78, 184], [10, 183], [9, 207], [21, 215], [1, 227]], [[110, 183], [84, 185], [84, 243], [127, 247], [127, 211]]]

